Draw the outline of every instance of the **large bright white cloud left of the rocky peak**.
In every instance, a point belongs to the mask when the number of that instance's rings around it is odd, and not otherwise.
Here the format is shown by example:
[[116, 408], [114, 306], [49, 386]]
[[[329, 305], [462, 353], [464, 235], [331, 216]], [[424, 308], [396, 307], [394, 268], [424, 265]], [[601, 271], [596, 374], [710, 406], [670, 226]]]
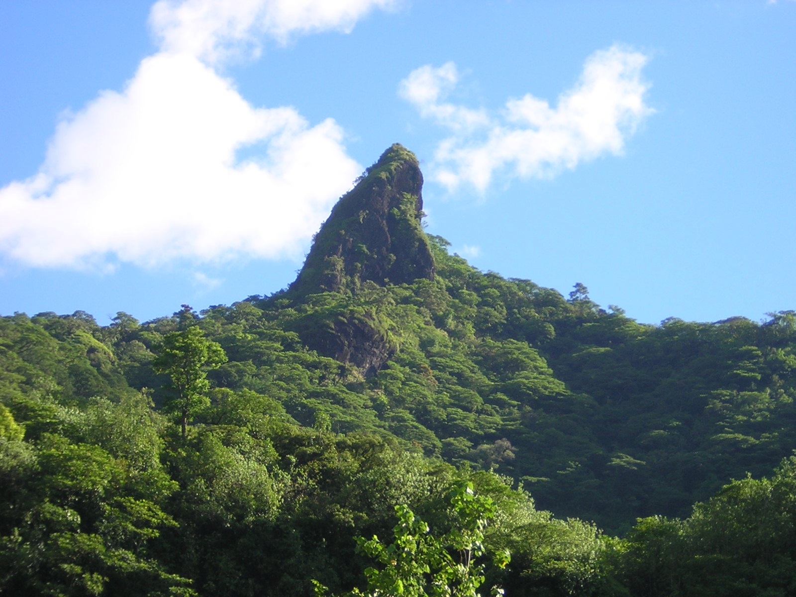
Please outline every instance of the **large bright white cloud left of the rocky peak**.
[[[388, 3], [158, 2], [161, 50], [122, 92], [64, 116], [38, 173], [0, 189], [0, 252], [100, 269], [297, 256], [361, 166], [334, 120], [254, 107], [215, 62], [258, 36], [348, 30]], [[247, 148], [256, 157], [237, 159]]]

